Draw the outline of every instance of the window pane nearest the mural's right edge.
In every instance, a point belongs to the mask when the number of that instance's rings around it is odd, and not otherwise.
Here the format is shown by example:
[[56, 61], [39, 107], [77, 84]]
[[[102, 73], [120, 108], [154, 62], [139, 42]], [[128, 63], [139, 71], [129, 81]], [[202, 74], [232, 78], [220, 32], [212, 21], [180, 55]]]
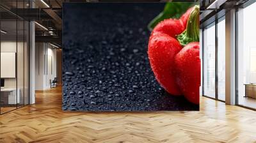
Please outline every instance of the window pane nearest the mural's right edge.
[[204, 95], [215, 98], [215, 24], [204, 29]]

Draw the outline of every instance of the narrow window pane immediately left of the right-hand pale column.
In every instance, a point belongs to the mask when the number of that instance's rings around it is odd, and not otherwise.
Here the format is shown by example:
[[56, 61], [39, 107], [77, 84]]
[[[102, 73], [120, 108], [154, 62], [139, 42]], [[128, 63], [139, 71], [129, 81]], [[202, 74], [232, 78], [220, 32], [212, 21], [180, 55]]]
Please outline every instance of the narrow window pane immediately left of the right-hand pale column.
[[218, 99], [225, 101], [225, 17], [218, 22]]

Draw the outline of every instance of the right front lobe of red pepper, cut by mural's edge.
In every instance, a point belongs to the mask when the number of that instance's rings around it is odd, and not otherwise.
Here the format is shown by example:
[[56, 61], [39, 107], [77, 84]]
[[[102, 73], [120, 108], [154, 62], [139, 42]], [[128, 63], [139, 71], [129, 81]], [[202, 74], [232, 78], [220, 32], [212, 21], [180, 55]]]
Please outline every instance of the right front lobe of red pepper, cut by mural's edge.
[[176, 83], [189, 102], [199, 104], [200, 44], [191, 42], [175, 56]]

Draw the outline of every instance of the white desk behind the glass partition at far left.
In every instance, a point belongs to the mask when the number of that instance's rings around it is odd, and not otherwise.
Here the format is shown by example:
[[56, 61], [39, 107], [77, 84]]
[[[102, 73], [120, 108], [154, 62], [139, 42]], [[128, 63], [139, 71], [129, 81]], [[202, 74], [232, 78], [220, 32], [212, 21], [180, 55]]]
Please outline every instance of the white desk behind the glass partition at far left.
[[[20, 89], [17, 89], [18, 94], [16, 98], [16, 88], [3, 88], [1, 89], [1, 100], [4, 104], [20, 103]], [[8, 102], [7, 102], [8, 101]]]

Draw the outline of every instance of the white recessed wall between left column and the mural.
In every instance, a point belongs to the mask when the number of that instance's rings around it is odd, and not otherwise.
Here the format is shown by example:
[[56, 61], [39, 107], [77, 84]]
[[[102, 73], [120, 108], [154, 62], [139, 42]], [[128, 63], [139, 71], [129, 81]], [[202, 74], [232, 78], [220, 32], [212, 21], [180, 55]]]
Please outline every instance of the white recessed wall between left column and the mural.
[[35, 89], [49, 89], [51, 88], [50, 80], [53, 80], [57, 75], [56, 49], [49, 43], [36, 43], [35, 47]]

